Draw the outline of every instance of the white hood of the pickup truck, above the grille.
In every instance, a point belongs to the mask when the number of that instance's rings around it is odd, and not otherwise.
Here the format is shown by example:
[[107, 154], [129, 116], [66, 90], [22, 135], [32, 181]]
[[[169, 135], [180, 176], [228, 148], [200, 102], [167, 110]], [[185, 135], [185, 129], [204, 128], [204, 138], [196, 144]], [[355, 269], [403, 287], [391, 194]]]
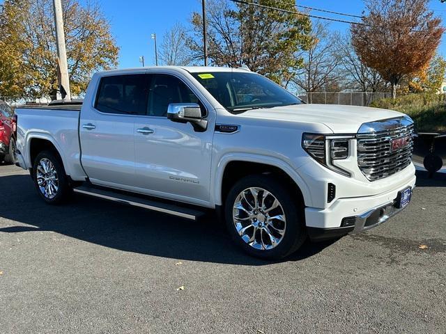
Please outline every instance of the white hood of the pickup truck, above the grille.
[[334, 134], [355, 134], [363, 123], [401, 117], [403, 113], [366, 106], [298, 104], [295, 106], [253, 109], [240, 115], [287, 122], [320, 123], [329, 127]]

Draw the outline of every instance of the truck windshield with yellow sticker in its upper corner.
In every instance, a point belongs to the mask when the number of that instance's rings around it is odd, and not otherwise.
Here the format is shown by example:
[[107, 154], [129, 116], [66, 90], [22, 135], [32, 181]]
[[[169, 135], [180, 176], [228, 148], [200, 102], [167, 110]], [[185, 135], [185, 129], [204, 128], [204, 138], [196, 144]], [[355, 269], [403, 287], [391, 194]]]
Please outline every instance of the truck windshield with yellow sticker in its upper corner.
[[250, 72], [192, 73], [215, 100], [232, 113], [250, 109], [302, 104], [302, 101], [281, 86]]

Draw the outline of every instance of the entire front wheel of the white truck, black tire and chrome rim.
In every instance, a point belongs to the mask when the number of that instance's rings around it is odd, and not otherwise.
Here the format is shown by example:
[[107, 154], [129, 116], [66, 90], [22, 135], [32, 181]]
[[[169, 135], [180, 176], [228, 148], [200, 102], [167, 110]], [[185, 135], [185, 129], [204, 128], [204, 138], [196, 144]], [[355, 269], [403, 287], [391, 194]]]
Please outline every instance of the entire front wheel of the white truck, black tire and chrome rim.
[[226, 227], [246, 253], [279, 260], [304, 243], [307, 233], [302, 207], [291, 192], [269, 175], [250, 175], [226, 196]]

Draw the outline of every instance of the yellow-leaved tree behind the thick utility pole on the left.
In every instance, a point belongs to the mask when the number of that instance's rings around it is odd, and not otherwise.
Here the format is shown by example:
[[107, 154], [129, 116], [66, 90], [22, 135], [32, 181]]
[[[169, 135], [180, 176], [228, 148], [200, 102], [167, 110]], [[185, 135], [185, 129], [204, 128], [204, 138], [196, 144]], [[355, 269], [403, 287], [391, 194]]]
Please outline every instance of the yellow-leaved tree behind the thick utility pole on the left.
[[[109, 22], [98, 3], [82, 3], [84, 1], [79, 0], [62, 2], [73, 95], [86, 90], [93, 72], [116, 66], [118, 56], [118, 47], [110, 33]], [[0, 8], [0, 17], [0, 35], [6, 36], [2, 42], [14, 46], [13, 51], [18, 59], [14, 66], [20, 68], [15, 78], [0, 79], [0, 92], [3, 90], [3, 82], [14, 82], [16, 90], [23, 95], [50, 96], [54, 99], [59, 85], [52, 0], [6, 0]], [[15, 24], [20, 31], [16, 35], [11, 33], [11, 26], [14, 28]], [[0, 59], [7, 58], [8, 52], [8, 49], [0, 48]], [[0, 66], [0, 73], [8, 72], [8, 64], [0, 62]], [[20, 78], [22, 74], [26, 78]]]

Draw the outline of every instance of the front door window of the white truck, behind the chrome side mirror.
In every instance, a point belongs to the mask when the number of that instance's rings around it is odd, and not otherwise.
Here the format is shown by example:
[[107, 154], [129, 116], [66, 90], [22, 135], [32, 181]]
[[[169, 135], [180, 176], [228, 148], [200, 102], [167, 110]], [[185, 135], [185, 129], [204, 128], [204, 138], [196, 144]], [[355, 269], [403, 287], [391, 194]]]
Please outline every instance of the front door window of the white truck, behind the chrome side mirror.
[[168, 74], [154, 74], [148, 96], [147, 115], [167, 116], [167, 107], [171, 103], [197, 103], [203, 106], [186, 84], [177, 77]]

